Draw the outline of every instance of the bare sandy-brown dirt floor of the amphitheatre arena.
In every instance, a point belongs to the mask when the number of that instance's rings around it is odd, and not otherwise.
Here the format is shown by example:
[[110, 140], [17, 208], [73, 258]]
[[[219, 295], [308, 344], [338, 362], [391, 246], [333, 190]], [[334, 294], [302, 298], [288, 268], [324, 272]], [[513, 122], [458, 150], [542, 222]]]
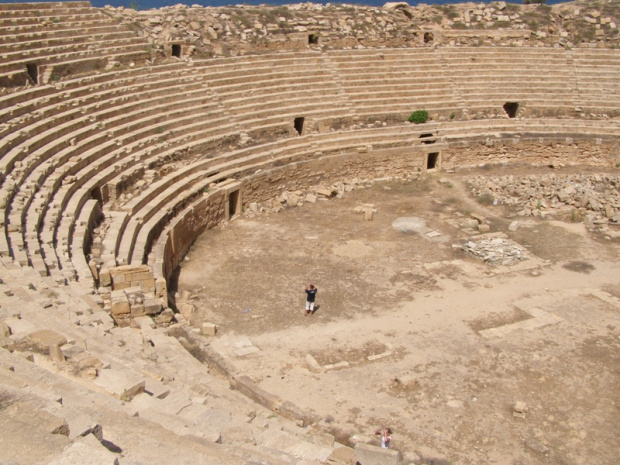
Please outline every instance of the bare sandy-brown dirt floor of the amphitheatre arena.
[[[375, 183], [208, 231], [179, 277], [191, 323], [216, 323], [212, 347], [265, 390], [362, 439], [390, 426], [393, 447], [427, 463], [616, 464], [620, 242], [467, 190], [469, 176], [508, 172]], [[354, 212], [365, 204], [372, 221]], [[465, 255], [455, 221], [470, 213], [530, 259]], [[304, 316], [310, 282], [318, 310]]]

